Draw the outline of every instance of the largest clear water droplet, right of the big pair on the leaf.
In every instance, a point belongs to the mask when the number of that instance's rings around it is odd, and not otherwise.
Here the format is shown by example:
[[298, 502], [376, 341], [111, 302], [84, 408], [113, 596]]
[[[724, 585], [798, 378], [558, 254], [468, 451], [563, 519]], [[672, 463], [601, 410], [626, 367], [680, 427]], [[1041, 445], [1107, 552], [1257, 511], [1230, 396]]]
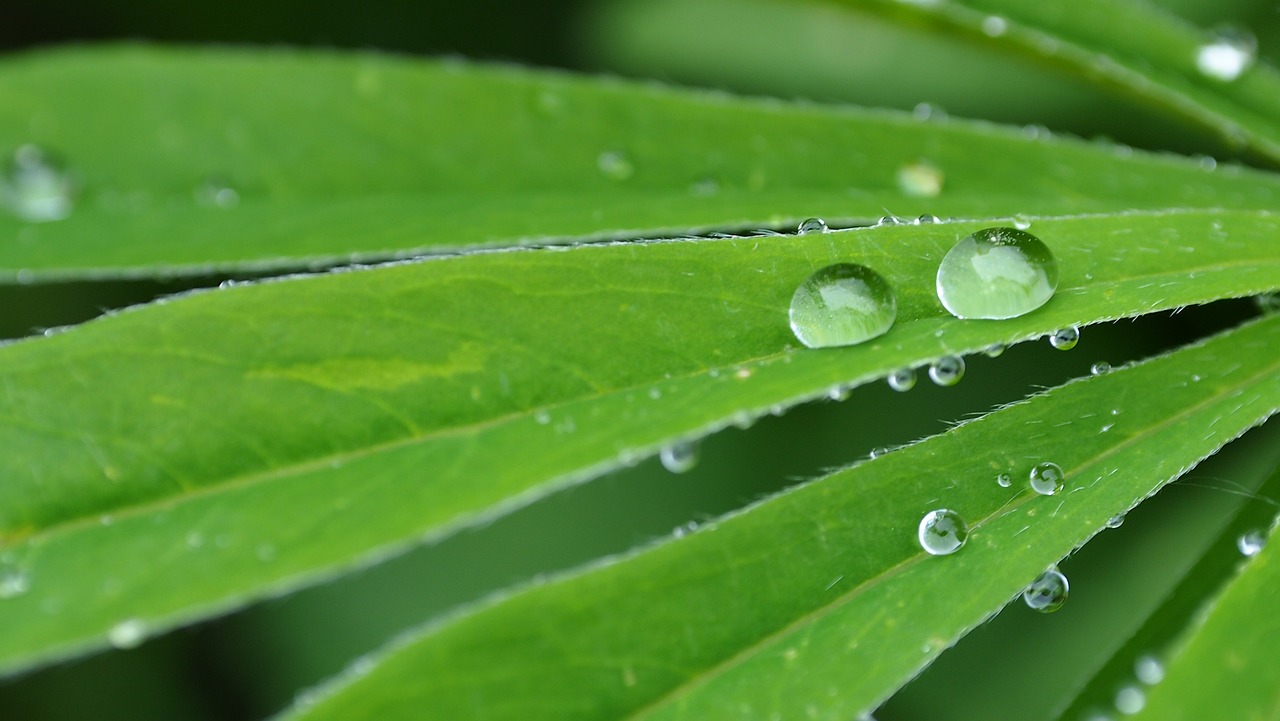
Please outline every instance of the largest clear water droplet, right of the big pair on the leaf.
[[938, 265], [938, 300], [956, 318], [1018, 318], [1047, 304], [1056, 289], [1053, 254], [1015, 228], [978, 231]]

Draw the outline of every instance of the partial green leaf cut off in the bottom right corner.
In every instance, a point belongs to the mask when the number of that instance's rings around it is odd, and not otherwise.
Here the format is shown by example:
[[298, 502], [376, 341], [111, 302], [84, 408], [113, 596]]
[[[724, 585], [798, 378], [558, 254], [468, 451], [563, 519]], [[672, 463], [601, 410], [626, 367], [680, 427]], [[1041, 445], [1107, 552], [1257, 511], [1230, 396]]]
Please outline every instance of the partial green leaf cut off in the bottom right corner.
[[[1275, 521], [1263, 538], [1274, 531]], [[1280, 717], [1276, 553], [1275, 543], [1268, 543], [1249, 558], [1239, 576], [1188, 625], [1164, 683], [1147, 692], [1147, 704], [1135, 718]]]

